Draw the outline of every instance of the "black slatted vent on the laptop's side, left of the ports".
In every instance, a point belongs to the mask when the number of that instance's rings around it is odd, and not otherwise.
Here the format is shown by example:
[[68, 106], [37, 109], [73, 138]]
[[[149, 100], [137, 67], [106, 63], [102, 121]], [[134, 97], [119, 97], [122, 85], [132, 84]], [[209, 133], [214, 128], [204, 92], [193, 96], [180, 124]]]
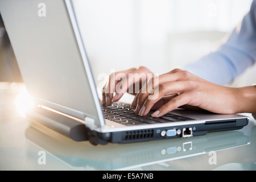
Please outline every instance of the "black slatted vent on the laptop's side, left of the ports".
[[125, 140], [152, 138], [153, 134], [154, 130], [127, 131], [125, 134]]

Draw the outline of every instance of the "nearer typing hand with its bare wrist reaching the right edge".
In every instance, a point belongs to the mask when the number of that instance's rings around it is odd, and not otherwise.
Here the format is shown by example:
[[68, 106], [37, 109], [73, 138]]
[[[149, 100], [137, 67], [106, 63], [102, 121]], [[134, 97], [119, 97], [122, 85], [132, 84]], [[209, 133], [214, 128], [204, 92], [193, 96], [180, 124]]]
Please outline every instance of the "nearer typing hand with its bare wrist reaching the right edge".
[[[255, 86], [229, 88], [213, 84], [190, 72], [174, 69], [159, 77], [150, 78], [135, 96], [131, 107], [136, 107], [135, 113], [139, 115], [147, 115], [154, 109], [156, 111], [152, 114], [153, 117], [160, 117], [184, 105], [220, 114], [255, 111], [255, 91]], [[252, 103], [249, 98], [246, 99], [246, 95], [250, 96]]]

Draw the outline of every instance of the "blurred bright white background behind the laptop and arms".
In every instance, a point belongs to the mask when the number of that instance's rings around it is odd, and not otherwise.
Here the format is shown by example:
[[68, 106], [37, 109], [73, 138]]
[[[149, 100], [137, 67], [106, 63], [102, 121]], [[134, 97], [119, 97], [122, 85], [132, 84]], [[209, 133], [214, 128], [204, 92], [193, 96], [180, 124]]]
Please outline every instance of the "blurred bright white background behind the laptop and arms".
[[[141, 65], [154, 73], [182, 68], [214, 51], [252, 0], [74, 0], [97, 86], [111, 71]], [[57, 8], [57, 7], [56, 7]], [[22, 81], [0, 27], [0, 81]], [[256, 65], [232, 83], [251, 85]]]

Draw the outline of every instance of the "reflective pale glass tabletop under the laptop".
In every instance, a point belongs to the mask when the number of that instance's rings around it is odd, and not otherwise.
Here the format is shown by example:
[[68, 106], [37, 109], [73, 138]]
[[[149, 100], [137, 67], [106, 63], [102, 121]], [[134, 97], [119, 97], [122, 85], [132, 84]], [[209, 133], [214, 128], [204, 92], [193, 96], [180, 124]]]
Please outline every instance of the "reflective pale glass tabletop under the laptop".
[[251, 114], [243, 113], [250, 120], [241, 130], [93, 146], [32, 126], [17, 103], [23, 90], [23, 84], [0, 83], [1, 170], [256, 169], [256, 121]]

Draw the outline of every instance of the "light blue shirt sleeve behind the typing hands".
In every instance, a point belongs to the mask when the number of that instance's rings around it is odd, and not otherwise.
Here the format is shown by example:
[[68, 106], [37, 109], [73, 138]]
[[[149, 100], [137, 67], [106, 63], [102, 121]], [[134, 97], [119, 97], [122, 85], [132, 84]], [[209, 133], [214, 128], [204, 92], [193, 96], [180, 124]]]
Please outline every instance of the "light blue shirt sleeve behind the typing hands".
[[216, 52], [201, 57], [183, 69], [216, 84], [224, 85], [256, 62], [256, 4]]

